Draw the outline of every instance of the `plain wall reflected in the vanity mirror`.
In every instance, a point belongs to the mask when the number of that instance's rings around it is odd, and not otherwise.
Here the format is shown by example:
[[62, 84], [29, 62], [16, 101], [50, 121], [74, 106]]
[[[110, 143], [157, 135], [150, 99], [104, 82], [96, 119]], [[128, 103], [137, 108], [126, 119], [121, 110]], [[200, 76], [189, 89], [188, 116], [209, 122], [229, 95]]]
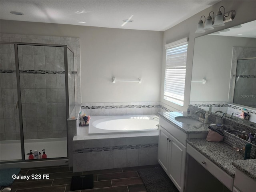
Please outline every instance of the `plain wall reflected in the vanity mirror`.
[[233, 46], [255, 47], [256, 38], [206, 35], [195, 39], [190, 102], [226, 101], [230, 84]]

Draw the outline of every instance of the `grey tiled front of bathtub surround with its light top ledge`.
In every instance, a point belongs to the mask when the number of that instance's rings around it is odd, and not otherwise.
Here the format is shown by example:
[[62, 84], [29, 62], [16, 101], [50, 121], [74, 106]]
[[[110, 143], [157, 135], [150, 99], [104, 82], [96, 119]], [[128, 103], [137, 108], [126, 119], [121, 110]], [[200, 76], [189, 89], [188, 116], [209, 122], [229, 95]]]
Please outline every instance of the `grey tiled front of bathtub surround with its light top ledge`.
[[157, 149], [158, 133], [74, 136], [74, 172], [158, 164]]

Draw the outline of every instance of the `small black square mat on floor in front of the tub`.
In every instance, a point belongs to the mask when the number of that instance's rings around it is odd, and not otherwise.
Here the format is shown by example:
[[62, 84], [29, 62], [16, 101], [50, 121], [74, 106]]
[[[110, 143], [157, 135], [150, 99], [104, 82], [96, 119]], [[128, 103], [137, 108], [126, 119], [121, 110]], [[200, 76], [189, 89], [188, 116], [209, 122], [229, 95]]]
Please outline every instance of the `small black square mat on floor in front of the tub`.
[[71, 180], [71, 191], [93, 188], [93, 175], [73, 176]]

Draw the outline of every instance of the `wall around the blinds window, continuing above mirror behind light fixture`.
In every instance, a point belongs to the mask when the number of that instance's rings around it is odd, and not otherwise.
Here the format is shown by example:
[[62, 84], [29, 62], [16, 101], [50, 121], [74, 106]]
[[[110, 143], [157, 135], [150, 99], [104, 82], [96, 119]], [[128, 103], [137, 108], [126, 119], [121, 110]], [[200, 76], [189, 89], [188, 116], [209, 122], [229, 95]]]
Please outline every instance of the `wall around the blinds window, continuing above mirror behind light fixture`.
[[[210, 30], [203, 34], [195, 34], [196, 26], [201, 16], [208, 16], [210, 11], [215, 13], [219, 10], [220, 6], [224, 6], [226, 12], [228, 10], [235, 10], [236, 16], [233, 21], [227, 22], [225, 26]], [[190, 86], [191, 86], [191, 76], [192, 76], [192, 61], [193, 61], [193, 52], [194, 52], [194, 39], [198, 36], [203, 36], [215, 31], [219, 31], [224, 28], [231, 26], [236, 26], [238, 24], [246, 23], [252, 20], [256, 20], [256, 1], [220, 1], [214, 6], [199, 12], [198, 14], [188, 18], [184, 22], [166, 30], [164, 32], [164, 41], [163, 44], [168, 44], [176, 40], [182, 39], [184, 37], [189, 37], [188, 40], [188, 54], [187, 54], [187, 68], [186, 68], [186, 85], [185, 85], [185, 97], [184, 97], [184, 106], [178, 106], [167, 102], [163, 99], [163, 90], [164, 90], [164, 66], [165, 66], [165, 52], [163, 48], [162, 56], [162, 78], [161, 78], [161, 97], [160, 102], [169, 105], [172, 110], [186, 111], [188, 104], [190, 102]], [[198, 94], [204, 94], [203, 92], [198, 92]]]

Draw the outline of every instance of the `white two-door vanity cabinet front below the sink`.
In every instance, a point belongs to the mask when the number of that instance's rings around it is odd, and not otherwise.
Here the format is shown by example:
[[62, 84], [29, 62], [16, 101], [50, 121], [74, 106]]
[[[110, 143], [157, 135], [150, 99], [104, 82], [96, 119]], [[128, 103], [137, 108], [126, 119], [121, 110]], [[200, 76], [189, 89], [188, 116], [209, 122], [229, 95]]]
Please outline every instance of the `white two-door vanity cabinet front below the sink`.
[[[186, 134], [160, 118], [158, 162], [180, 192], [184, 191]], [[179, 137], [180, 136], [180, 137]], [[182, 140], [181, 142], [177, 139]], [[182, 143], [183, 142], [183, 143]]]

